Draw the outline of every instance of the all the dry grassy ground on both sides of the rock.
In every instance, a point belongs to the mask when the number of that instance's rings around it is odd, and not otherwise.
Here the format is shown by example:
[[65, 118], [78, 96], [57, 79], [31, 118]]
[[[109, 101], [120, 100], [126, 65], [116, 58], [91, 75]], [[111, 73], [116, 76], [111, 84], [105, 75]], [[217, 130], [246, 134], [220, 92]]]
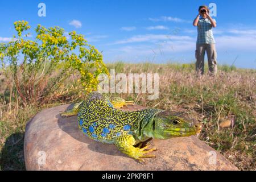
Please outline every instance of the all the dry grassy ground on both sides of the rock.
[[[220, 151], [242, 170], [255, 170], [256, 71], [222, 66], [216, 77], [197, 77], [193, 64], [108, 64], [119, 73], [159, 73], [159, 98], [148, 100], [147, 94], [122, 94], [137, 104], [166, 110], [185, 111], [203, 123], [200, 139]], [[207, 69], [207, 68], [206, 68]], [[0, 86], [0, 169], [24, 169], [23, 136], [28, 119], [45, 107], [82, 98], [76, 78], [52, 93], [44, 105], [20, 106], [10, 92]], [[0, 78], [1, 81], [1, 78]], [[7, 82], [4, 80], [2, 82]], [[11, 81], [10, 81], [11, 83]], [[9, 84], [10, 85], [10, 84]], [[75, 87], [72, 85], [75, 85]], [[11, 103], [11, 104], [10, 104]], [[221, 129], [221, 119], [233, 126]]]

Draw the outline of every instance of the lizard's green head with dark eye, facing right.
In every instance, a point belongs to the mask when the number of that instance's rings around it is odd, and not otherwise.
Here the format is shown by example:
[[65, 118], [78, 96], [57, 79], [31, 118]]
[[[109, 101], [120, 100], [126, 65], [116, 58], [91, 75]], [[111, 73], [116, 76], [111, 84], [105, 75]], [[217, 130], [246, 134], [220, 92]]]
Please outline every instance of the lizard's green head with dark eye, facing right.
[[168, 111], [158, 113], [154, 117], [154, 138], [187, 137], [200, 133], [202, 125], [171, 114]]

